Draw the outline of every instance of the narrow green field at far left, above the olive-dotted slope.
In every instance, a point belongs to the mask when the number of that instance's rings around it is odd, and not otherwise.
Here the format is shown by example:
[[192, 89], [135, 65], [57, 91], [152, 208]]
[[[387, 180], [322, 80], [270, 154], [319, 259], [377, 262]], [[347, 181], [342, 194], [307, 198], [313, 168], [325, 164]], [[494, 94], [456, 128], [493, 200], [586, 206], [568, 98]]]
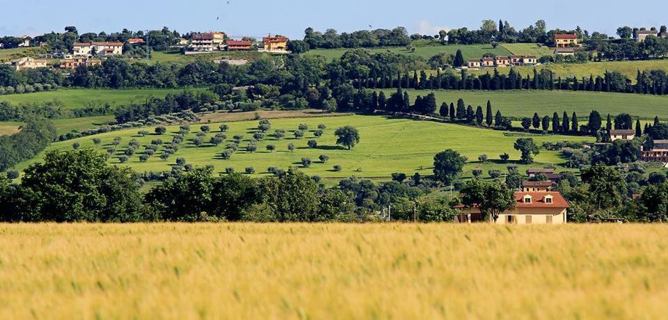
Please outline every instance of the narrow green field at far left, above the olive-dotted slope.
[[39, 93], [22, 93], [19, 95], [0, 95], [0, 101], [11, 104], [40, 104], [58, 100], [67, 109], [81, 109], [87, 105], [120, 106], [131, 102], [143, 102], [148, 97], [164, 97], [168, 93], [180, 93], [184, 89], [59, 89]]

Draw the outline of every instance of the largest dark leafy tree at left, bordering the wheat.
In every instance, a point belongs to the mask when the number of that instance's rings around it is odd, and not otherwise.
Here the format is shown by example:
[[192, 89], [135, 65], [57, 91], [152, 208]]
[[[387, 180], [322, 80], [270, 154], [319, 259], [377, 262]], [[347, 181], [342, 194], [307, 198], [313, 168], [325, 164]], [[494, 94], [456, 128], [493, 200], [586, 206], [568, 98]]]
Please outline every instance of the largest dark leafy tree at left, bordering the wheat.
[[109, 166], [93, 150], [47, 152], [25, 170], [20, 186], [24, 221], [146, 220], [132, 170]]

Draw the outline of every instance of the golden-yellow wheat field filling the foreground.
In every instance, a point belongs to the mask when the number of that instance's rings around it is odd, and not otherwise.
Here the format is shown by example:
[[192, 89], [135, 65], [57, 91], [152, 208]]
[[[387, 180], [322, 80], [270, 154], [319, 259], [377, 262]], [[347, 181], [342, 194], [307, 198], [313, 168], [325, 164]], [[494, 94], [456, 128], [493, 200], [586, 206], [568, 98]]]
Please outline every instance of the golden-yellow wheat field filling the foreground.
[[668, 226], [0, 225], [0, 319], [665, 319]]

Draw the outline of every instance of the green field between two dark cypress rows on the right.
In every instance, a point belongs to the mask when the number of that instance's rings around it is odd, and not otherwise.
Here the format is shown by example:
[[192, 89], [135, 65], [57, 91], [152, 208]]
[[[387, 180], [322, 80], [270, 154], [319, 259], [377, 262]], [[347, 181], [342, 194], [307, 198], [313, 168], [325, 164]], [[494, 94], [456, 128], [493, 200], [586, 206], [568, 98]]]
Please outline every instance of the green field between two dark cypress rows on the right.
[[[385, 95], [390, 97], [396, 90], [385, 90]], [[408, 90], [411, 103], [417, 95], [429, 94], [429, 90]], [[534, 112], [539, 115], [552, 115], [555, 111], [562, 115], [564, 111], [570, 116], [573, 111], [579, 117], [589, 116], [591, 110], [605, 114], [616, 115], [618, 113], [629, 113], [642, 118], [654, 118], [658, 115], [662, 119], [668, 118], [668, 97], [658, 95], [635, 95], [628, 93], [588, 93], [573, 91], [550, 91], [550, 90], [505, 90], [505, 91], [470, 91], [470, 90], [436, 90], [436, 102], [438, 106], [442, 102], [454, 102], [464, 99], [475, 109], [482, 106], [487, 100], [492, 102], [493, 109], [501, 111], [503, 115], [515, 117], [532, 116]], [[517, 124], [519, 125], [519, 123]]]

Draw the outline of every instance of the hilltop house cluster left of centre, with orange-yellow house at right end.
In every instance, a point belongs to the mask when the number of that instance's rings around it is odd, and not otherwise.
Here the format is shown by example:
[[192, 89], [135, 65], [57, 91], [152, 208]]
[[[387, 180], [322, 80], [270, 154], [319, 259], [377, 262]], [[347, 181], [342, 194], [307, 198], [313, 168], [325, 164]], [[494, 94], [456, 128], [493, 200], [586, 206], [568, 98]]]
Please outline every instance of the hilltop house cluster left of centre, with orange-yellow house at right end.
[[212, 52], [212, 51], [264, 51], [276, 54], [287, 53], [288, 38], [283, 36], [267, 36], [262, 38], [260, 47], [254, 47], [250, 40], [232, 40], [223, 32], [205, 32], [193, 35], [185, 46], [193, 52]]

